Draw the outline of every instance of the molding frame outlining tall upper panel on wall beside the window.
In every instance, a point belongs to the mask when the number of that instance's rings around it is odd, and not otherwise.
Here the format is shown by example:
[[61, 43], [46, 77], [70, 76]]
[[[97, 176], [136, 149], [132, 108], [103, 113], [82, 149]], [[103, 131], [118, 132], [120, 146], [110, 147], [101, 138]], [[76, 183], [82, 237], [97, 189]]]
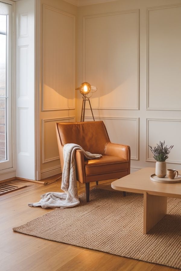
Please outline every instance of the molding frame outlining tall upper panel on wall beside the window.
[[[72, 89], [72, 93], [73, 93], [73, 107], [59, 107], [59, 108], [45, 108], [44, 107], [44, 86], [43, 86], [43, 77], [44, 77], [44, 37], [45, 37], [45, 27], [44, 27], [44, 22], [45, 22], [45, 9], [49, 9], [51, 11], [63, 14], [65, 16], [71, 17], [73, 18], [73, 89]], [[56, 8], [52, 8], [50, 6], [44, 5], [43, 4], [43, 34], [42, 34], [42, 81], [41, 81], [41, 86], [42, 86], [42, 111], [57, 111], [57, 110], [74, 110], [75, 109], [75, 16], [69, 13], [66, 13], [64, 11], [61, 11], [59, 9]]]

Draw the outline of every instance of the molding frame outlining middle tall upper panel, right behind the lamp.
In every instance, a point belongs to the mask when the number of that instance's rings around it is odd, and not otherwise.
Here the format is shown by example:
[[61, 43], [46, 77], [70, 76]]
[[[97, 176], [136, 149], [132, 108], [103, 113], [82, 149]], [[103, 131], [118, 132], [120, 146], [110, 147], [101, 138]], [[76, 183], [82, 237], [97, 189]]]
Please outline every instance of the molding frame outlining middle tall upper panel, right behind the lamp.
[[105, 110], [139, 110], [139, 86], [140, 86], [140, 60], [139, 60], [139, 9], [134, 10], [126, 10], [126, 11], [117, 11], [117, 12], [110, 12], [110, 13], [103, 13], [103, 14], [95, 14], [95, 15], [88, 15], [83, 17], [83, 82], [86, 81], [86, 20], [90, 18], [97, 18], [97, 17], [106, 17], [106, 16], [113, 16], [119, 14], [127, 14], [127, 13], [136, 13], [137, 14], [137, 106], [136, 107], [92, 107], [93, 109], [105, 109]]

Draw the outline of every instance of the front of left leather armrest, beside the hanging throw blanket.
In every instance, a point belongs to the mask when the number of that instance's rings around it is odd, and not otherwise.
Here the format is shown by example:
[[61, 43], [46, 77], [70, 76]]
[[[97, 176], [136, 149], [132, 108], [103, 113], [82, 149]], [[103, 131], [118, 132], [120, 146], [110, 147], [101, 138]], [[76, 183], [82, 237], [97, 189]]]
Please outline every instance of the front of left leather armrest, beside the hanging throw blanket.
[[84, 154], [81, 150], [75, 151], [75, 167], [77, 180], [81, 183], [85, 183], [85, 166], [84, 166]]

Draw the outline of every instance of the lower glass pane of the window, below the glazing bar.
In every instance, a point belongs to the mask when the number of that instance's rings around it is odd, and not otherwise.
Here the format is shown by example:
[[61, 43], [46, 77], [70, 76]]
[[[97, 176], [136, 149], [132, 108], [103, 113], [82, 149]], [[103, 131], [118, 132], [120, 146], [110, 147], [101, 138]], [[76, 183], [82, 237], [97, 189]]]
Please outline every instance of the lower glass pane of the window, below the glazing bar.
[[6, 160], [5, 108], [6, 99], [0, 98], [0, 161]]

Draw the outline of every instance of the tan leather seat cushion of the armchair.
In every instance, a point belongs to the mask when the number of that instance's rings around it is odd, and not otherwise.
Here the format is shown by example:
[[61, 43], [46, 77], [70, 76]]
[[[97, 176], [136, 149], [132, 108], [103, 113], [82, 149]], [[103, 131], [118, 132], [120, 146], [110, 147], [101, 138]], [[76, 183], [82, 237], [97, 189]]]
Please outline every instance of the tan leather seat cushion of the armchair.
[[129, 161], [116, 157], [103, 155], [99, 159], [85, 160], [85, 175], [97, 175], [128, 170]]

